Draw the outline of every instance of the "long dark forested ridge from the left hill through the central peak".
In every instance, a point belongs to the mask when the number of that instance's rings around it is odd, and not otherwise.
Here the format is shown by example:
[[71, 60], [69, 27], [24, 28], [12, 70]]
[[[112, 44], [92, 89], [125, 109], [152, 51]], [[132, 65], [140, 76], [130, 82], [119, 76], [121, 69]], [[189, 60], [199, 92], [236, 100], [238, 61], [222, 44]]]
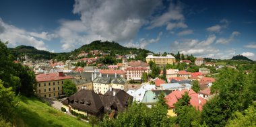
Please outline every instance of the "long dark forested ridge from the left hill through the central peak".
[[[9, 52], [14, 56], [14, 58], [22, 57], [25, 53], [33, 58], [37, 59], [57, 59], [57, 60], [67, 60], [69, 56], [77, 56], [82, 51], [88, 52], [89, 50], [102, 50], [104, 52], [110, 52], [111, 56], [115, 56], [115, 54], [138, 54], [138, 58], [142, 60], [146, 57], [149, 50], [141, 49], [141, 48], [127, 48], [125, 46], [121, 46], [117, 42], [101, 42], [100, 40], [96, 40], [90, 44], [86, 44], [77, 48], [71, 52], [63, 52], [63, 53], [52, 53], [45, 50], [38, 50], [32, 46], [18, 46], [16, 48], [8, 48]], [[73, 59], [73, 58], [71, 58]]]

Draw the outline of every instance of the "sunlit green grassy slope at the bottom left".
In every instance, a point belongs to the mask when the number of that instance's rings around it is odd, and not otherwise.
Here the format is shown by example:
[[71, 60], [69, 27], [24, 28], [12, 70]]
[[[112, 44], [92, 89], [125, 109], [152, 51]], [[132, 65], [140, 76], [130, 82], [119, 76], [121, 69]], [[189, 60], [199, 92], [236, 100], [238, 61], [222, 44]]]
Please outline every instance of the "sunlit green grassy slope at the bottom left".
[[77, 120], [72, 116], [52, 108], [36, 97], [21, 97], [18, 108], [15, 109], [17, 126], [90, 126], [87, 122]]

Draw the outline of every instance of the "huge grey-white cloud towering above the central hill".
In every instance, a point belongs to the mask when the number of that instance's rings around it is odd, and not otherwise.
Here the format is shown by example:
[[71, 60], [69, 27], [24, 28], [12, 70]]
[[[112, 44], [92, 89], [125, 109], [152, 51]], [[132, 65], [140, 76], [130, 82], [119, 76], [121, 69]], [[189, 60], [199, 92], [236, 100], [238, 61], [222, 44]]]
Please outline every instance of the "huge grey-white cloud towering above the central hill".
[[129, 42], [159, 5], [158, 0], [75, 0], [73, 13], [81, 15], [80, 20], [61, 21], [56, 33], [64, 50], [93, 40]]

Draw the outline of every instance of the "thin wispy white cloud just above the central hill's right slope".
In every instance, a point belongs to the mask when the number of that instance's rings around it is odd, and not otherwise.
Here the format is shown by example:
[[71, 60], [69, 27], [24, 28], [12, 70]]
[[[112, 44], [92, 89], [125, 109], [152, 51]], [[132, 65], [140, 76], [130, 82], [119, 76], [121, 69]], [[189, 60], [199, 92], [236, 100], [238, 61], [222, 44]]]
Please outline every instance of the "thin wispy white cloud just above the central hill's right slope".
[[134, 43], [133, 41], [125, 44], [125, 46], [127, 47], [134, 47], [134, 48], [146, 48], [146, 46], [148, 46], [148, 44], [152, 44], [152, 43], [157, 43], [159, 42], [159, 40], [161, 39], [162, 36], [162, 32], [160, 32], [157, 36], [157, 38], [152, 38], [150, 40], [147, 40], [145, 38], [140, 38], [139, 42]]

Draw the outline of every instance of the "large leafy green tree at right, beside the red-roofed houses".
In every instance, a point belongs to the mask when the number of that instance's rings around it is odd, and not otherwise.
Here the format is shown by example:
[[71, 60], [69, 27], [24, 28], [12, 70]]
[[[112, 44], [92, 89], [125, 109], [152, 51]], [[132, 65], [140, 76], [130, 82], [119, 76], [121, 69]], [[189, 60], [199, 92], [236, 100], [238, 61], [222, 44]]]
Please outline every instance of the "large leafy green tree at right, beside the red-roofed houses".
[[216, 97], [203, 106], [202, 118], [208, 126], [225, 126], [236, 111], [243, 111], [253, 103], [248, 75], [243, 71], [222, 69], [218, 81], [212, 85]]

